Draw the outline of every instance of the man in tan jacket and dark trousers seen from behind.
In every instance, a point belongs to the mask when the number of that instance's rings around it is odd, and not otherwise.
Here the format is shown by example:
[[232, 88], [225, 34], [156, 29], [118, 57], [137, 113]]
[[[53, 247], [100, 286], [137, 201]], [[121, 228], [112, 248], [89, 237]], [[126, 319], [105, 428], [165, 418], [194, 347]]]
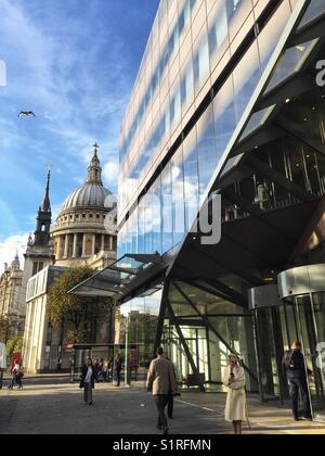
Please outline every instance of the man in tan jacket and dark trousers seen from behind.
[[158, 410], [157, 429], [162, 430], [164, 434], [168, 434], [168, 420], [165, 414], [168, 404], [168, 395], [176, 394], [177, 382], [172, 364], [164, 357], [164, 349], [157, 350], [157, 358], [150, 366], [147, 382], [147, 391], [153, 392], [155, 403]]

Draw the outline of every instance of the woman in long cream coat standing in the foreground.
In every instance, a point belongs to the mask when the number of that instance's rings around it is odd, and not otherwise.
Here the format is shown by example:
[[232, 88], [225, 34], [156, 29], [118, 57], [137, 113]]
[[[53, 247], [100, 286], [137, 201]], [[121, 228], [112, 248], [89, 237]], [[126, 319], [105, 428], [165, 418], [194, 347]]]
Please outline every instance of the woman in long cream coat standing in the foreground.
[[227, 388], [225, 420], [233, 423], [235, 435], [243, 434], [243, 421], [247, 418], [245, 371], [235, 355], [229, 357], [229, 366], [223, 376]]

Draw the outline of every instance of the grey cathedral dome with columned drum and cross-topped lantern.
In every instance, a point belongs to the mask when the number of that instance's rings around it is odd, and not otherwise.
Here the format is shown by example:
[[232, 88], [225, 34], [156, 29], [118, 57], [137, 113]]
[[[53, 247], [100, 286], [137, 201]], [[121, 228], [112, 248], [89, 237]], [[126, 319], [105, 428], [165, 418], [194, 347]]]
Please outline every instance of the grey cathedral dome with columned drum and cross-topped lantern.
[[116, 204], [102, 181], [98, 144], [86, 183], [64, 202], [51, 230], [55, 266], [88, 263], [103, 269], [116, 259]]

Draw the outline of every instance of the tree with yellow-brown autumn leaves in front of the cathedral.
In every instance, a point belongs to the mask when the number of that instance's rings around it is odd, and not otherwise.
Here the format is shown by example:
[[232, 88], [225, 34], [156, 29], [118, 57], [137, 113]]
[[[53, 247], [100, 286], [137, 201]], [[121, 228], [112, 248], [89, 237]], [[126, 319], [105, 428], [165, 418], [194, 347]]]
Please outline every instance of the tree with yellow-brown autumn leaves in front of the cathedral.
[[[110, 302], [83, 297], [68, 292], [93, 276], [89, 266], [79, 266], [64, 273], [50, 289], [49, 316], [53, 327], [61, 327], [67, 343], [95, 342], [99, 320], [107, 318]], [[86, 340], [84, 340], [86, 339]]]

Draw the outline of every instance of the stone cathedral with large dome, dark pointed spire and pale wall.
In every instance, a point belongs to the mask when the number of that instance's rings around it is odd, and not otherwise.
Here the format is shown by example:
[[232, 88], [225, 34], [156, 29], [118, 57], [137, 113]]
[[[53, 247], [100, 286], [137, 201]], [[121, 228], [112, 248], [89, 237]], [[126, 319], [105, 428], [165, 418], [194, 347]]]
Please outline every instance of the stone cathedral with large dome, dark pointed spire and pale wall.
[[[53, 328], [49, 321], [49, 291], [53, 282], [68, 268], [88, 264], [102, 270], [116, 261], [116, 203], [103, 186], [98, 151], [95, 144], [87, 181], [66, 199], [56, 225], [50, 229], [51, 221], [47, 219], [46, 223], [43, 217], [47, 212], [39, 214], [38, 228], [47, 233], [42, 241], [49, 245], [52, 259], [46, 263], [40, 257], [39, 267], [35, 266], [34, 274], [28, 277], [24, 295], [27, 314], [23, 356], [26, 371], [31, 373], [53, 371], [58, 365], [62, 369], [69, 368], [70, 353], [62, 333], [70, 328]], [[46, 207], [50, 207], [49, 195]], [[35, 252], [34, 244], [30, 250]], [[93, 342], [108, 342], [110, 317], [107, 315], [107, 319], [99, 324]]]

